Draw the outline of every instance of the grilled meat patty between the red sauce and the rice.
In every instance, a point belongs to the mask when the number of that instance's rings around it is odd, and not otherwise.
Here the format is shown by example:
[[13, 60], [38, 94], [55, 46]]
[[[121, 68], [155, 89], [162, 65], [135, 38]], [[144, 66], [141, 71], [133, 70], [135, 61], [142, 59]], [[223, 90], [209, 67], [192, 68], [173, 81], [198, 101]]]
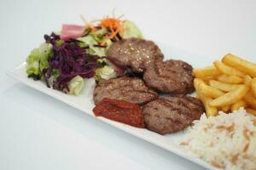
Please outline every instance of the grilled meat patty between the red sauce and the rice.
[[160, 134], [175, 133], [199, 119], [204, 106], [199, 99], [177, 95], [156, 99], [143, 106], [148, 130]]

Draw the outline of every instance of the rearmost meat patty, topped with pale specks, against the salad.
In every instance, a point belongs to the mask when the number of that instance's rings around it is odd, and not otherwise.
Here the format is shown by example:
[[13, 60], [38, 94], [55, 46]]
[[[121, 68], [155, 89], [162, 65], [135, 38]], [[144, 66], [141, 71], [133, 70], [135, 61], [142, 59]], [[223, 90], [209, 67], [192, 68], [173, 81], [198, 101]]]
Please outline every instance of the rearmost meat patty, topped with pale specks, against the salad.
[[120, 67], [143, 72], [148, 65], [162, 61], [164, 55], [152, 41], [131, 37], [114, 42], [107, 51], [108, 59]]

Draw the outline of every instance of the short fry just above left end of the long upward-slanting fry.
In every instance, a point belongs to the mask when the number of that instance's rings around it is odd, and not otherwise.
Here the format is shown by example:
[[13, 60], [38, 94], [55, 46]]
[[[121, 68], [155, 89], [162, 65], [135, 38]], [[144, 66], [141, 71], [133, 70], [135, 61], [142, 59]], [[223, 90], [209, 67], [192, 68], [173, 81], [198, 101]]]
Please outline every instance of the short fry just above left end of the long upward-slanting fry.
[[221, 95], [224, 95], [224, 92], [218, 90], [217, 88], [212, 88], [211, 86], [208, 86], [205, 83], [200, 83], [198, 85], [198, 91], [211, 98], [218, 98]]

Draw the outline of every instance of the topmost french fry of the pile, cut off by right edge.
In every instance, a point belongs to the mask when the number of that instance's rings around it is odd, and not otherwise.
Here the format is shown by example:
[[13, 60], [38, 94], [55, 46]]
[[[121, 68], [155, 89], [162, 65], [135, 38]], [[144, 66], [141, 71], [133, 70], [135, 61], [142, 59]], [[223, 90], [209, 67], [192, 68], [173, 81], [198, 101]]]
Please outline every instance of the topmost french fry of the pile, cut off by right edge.
[[252, 62], [241, 59], [233, 54], [226, 54], [222, 59], [222, 62], [247, 73], [251, 77], [256, 77], [256, 64], [253, 64]]

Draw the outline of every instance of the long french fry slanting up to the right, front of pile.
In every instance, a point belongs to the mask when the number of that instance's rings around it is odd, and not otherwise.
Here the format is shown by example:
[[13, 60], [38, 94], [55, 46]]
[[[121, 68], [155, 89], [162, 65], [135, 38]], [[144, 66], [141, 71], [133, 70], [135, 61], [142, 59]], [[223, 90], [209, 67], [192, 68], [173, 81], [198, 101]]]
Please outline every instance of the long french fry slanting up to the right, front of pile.
[[224, 94], [216, 99], [213, 99], [209, 104], [212, 107], [222, 107], [226, 105], [231, 105], [242, 99], [247, 94], [248, 91], [249, 87], [247, 87], [246, 85], [241, 85], [235, 90], [227, 94]]

